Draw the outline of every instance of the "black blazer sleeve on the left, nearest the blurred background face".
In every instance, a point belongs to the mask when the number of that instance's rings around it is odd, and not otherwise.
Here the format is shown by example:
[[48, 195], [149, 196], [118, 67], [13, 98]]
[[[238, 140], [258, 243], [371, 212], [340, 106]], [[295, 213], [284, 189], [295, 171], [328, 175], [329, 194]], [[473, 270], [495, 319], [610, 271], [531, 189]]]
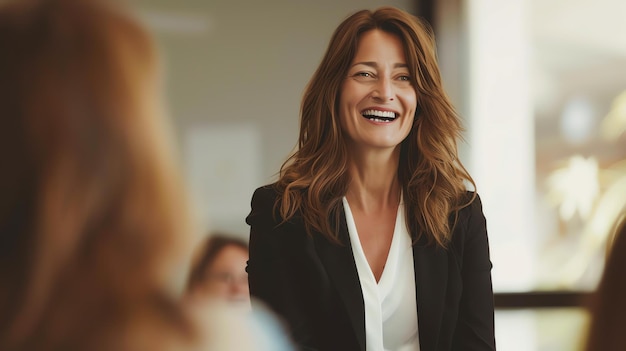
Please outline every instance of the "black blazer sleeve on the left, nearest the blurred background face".
[[[250, 225], [250, 258], [246, 271], [250, 295], [260, 300], [287, 322], [298, 350], [317, 350], [313, 345], [312, 311], [306, 300], [305, 268], [295, 256], [304, 233], [293, 233], [293, 226], [281, 223], [274, 210], [276, 192], [271, 186], [257, 189], [246, 218]], [[254, 306], [254, 305], [253, 305]], [[254, 308], [254, 307], [253, 307]]]

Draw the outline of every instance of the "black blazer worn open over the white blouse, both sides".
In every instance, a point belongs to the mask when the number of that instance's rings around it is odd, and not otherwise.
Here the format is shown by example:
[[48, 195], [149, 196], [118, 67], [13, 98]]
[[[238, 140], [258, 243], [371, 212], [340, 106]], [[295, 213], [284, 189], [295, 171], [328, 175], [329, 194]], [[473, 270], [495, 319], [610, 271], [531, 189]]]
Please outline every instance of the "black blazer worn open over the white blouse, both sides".
[[[281, 224], [269, 185], [252, 196], [250, 294], [287, 323], [302, 350], [365, 350], [365, 308], [345, 215], [337, 245]], [[491, 261], [480, 198], [462, 209], [447, 250], [413, 245], [421, 351], [495, 350]]]

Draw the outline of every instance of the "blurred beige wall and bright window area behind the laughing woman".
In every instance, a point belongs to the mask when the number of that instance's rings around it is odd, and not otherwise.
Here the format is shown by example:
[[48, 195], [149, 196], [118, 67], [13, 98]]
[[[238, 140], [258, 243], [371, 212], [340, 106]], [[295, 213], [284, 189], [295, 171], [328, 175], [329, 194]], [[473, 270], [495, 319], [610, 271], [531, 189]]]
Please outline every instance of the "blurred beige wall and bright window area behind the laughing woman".
[[500, 350], [577, 350], [626, 207], [626, 1], [137, 1], [203, 228], [247, 239], [333, 29], [392, 5], [434, 27], [484, 204]]

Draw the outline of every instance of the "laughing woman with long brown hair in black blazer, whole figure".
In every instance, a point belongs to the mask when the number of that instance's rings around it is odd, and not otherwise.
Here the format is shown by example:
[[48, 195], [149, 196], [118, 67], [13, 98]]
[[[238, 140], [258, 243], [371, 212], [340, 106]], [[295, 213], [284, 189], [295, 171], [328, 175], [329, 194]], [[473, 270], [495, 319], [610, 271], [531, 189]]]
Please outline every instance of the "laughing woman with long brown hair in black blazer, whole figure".
[[494, 350], [485, 218], [431, 30], [390, 7], [335, 30], [299, 147], [257, 189], [250, 293], [307, 350]]

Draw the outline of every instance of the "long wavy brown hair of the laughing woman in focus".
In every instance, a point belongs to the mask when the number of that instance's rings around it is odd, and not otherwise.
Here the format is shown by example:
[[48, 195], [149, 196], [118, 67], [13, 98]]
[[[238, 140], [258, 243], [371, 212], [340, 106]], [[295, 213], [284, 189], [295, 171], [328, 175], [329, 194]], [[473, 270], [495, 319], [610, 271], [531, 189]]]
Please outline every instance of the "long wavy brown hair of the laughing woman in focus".
[[458, 210], [475, 196], [466, 195], [466, 182], [474, 181], [459, 161], [456, 141], [462, 127], [442, 87], [432, 29], [393, 7], [359, 11], [332, 35], [304, 93], [298, 148], [281, 167], [276, 206], [283, 220], [300, 213], [309, 233], [339, 242], [341, 198], [350, 183], [339, 96], [361, 35], [374, 29], [401, 39], [418, 98], [398, 167], [407, 226], [414, 241], [426, 236], [428, 243], [446, 247]]

